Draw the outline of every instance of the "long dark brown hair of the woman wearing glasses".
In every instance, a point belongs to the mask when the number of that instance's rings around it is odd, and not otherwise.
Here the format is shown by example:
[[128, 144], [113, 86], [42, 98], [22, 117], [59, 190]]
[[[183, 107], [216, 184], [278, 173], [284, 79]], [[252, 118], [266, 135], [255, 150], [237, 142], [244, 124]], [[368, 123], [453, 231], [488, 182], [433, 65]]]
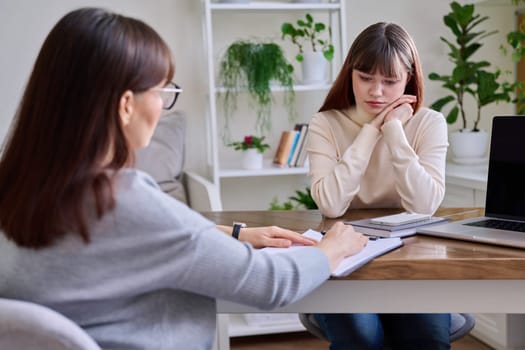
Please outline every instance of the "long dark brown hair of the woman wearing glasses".
[[6, 236], [32, 248], [69, 232], [89, 242], [89, 217], [115, 205], [111, 174], [134, 160], [120, 98], [169, 81], [173, 72], [168, 46], [139, 20], [97, 8], [60, 19], [37, 57], [0, 160]]

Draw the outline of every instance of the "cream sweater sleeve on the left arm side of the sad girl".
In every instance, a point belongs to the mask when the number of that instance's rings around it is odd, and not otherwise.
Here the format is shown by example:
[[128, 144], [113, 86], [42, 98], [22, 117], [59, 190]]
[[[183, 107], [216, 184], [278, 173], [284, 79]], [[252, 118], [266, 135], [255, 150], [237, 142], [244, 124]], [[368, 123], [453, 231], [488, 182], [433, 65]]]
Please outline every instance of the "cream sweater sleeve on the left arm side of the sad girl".
[[365, 124], [352, 144], [339, 150], [335, 133], [325, 117], [318, 114], [308, 130], [312, 198], [327, 217], [343, 215], [359, 192], [379, 131]]

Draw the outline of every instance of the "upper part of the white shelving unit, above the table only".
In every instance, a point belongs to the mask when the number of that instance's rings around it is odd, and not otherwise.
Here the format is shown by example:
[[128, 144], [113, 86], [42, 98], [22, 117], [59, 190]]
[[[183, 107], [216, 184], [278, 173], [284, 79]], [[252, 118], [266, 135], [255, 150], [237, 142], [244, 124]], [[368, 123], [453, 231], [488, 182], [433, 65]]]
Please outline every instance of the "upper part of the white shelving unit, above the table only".
[[[291, 2], [291, 0], [276, 0], [276, 1], [256, 1], [251, 0], [248, 3], [227, 3], [218, 2], [213, 0], [203, 0], [204, 2], [204, 34], [205, 44], [207, 52], [207, 64], [208, 64], [208, 116], [207, 116], [207, 159], [206, 159], [206, 174], [207, 177], [217, 189], [219, 198], [221, 198], [221, 180], [226, 178], [249, 178], [257, 176], [284, 176], [284, 175], [306, 175], [308, 173], [307, 168], [285, 168], [279, 167], [272, 164], [271, 160], [265, 159], [263, 169], [258, 170], [244, 170], [239, 167], [239, 164], [234, 163], [231, 159], [224, 159], [221, 157], [221, 150], [224, 150], [223, 140], [221, 138], [220, 122], [224, 120], [221, 108], [218, 106], [218, 96], [225, 90], [223, 87], [218, 86], [216, 81], [218, 75], [218, 64], [220, 61], [220, 49], [218, 47], [216, 37], [219, 33], [224, 31], [216, 24], [216, 19], [220, 16], [224, 21], [224, 18], [228, 16], [250, 16], [250, 21], [253, 18], [256, 23], [257, 18], [260, 15], [271, 16], [288, 16], [294, 15], [294, 19], [287, 21], [295, 21], [300, 17], [304, 16], [305, 13], [312, 13], [314, 17], [316, 14], [321, 14], [324, 18], [328, 18], [328, 25], [332, 27], [333, 41], [336, 47], [336, 57], [334, 61], [329, 65], [330, 79], [333, 81], [335, 75], [338, 72], [339, 66], [343, 60], [343, 55], [346, 53], [346, 28], [345, 28], [345, 1], [335, 0], [323, 0], [318, 3], [299, 1]], [[226, 17], [224, 17], [226, 16]], [[246, 17], [248, 18], [248, 17]], [[220, 22], [220, 21], [219, 21]], [[231, 27], [235, 21], [228, 21], [228, 27]], [[250, 28], [240, 26], [238, 33], [235, 33], [235, 37], [231, 38], [230, 42], [233, 42], [239, 37], [253, 37], [249, 32]], [[272, 34], [280, 34], [279, 26], [268, 25], [265, 29]], [[231, 28], [230, 28], [231, 31]], [[230, 32], [231, 34], [231, 32]], [[224, 37], [223, 37], [224, 40]], [[281, 42], [276, 41], [278, 44]], [[283, 42], [284, 44], [284, 42]], [[217, 46], [217, 47], [216, 47]], [[295, 53], [289, 56], [290, 62], [294, 57]], [[331, 86], [331, 81], [326, 84], [316, 85], [301, 85], [297, 84], [294, 86], [296, 95], [302, 93], [312, 92], [326, 92]], [[283, 91], [282, 87], [275, 87], [272, 91], [279, 93]], [[240, 96], [242, 98], [242, 95]], [[310, 111], [310, 115], [313, 115], [315, 110]], [[273, 112], [272, 112], [273, 113]], [[277, 116], [281, 117], [281, 116]], [[253, 116], [255, 118], [255, 116]], [[276, 116], [273, 116], [276, 118]], [[287, 117], [285, 117], [287, 118]], [[279, 133], [281, 130], [278, 130]]]

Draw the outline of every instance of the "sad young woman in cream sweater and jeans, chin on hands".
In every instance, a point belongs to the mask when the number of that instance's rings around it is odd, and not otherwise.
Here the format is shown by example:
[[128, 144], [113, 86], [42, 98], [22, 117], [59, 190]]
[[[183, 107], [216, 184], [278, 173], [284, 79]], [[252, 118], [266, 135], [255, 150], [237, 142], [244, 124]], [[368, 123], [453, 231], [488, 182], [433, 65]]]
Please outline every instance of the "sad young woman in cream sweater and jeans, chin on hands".
[[[352, 208], [432, 214], [445, 194], [447, 126], [423, 107], [414, 41], [400, 26], [376, 23], [353, 42], [310, 122], [311, 193], [327, 217]], [[449, 349], [449, 314], [316, 315], [331, 349]]]

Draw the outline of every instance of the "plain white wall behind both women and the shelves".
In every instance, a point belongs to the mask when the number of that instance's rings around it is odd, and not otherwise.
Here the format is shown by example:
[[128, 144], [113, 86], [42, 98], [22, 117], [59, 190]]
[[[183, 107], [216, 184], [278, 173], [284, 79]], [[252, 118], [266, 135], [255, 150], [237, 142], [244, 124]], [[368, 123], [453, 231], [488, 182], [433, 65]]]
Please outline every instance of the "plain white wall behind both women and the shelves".
[[[423, 63], [425, 76], [435, 71], [446, 73], [448, 59], [447, 48], [439, 36], [449, 36], [442, 24], [442, 17], [449, 11], [449, 2], [445, 0], [346, 0], [347, 1], [347, 36], [349, 41], [366, 26], [377, 21], [392, 21], [404, 26], [414, 37]], [[487, 26], [498, 28], [500, 33], [487, 41], [480, 56], [497, 66], [512, 70], [510, 58], [499, 52], [499, 45], [504, 42], [503, 36], [514, 26], [514, 8], [510, 0], [491, 0], [477, 5], [480, 11], [491, 16]], [[33, 61], [45, 36], [54, 23], [66, 12], [80, 6], [101, 6], [126, 15], [138, 17], [154, 27], [167, 41], [174, 52], [176, 61], [175, 81], [184, 88], [184, 93], [177, 102], [177, 108], [188, 115], [188, 137], [186, 165], [188, 168], [204, 168], [206, 96], [206, 54], [202, 34], [203, 5], [197, 0], [1, 0], [0, 1], [0, 140], [6, 135], [9, 123], [17, 108], [18, 100], [30, 74]], [[242, 21], [242, 18], [239, 19]], [[235, 21], [238, 22], [238, 21]], [[266, 31], [275, 27], [273, 38], [279, 40], [280, 21], [245, 23], [251, 29]], [[224, 21], [221, 31], [236, 33], [238, 26], [233, 21]], [[271, 29], [270, 29], [271, 31]], [[238, 32], [243, 37], [244, 31]], [[267, 34], [267, 36], [271, 36]], [[220, 48], [221, 46], [216, 45]], [[349, 46], [350, 43], [348, 43]], [[438, 83], [426, 81], [425, 101], [433, 102], [442, 96], [443, 90]], [[322, 101], [325, 92], [309, 93], [299, 101], [300, 119], [308, 121], [311, 114]], [[276, 101], [280, 104], [280, 96]], [[277, 107], [276, 113], [279, 112]], [[482, 127], [490, 128], [490, 117], [498, 113], [512, 113], [511, 106], [491, 106], [484, 111]], [[240, 111], [242, 115], [242, 110]], [[237, 118], [236, 137], [241, 137], [252, 130], [253, 122]], [[278, 120], [272, 144], [277, 143], [280, 132], [288, 128], [287, 120]], [[459, 126], [450, 126], [457, 129]], [[271, 152], [270, 152], [271, 153]], [[267, 152], [266, 157], [272, 155]], [[243, 180], [249, 181], [249, 180]], [[277, 182], [286, 185], [277, 187]], [[223, 192], [228, 194], [225, 208], [240, 207], [246, 209], [266, 209], [276, 194], [285, 199], [295, 189], [302, 189], [306, 184], [305, 177], [276, 177], [260, 180], [251, 186], [250, 193], [237, 193], [237, 183], [227, 181]], [[295, 186], [296, 184], [296, 186]], [[271, 191], [268, 190], [271, 186]], [[260, 190], [260, 194], [257, 192]], [[288, 189], [288, 193], [286, 192]], [[255, 193], [253, 192], [255, 191]]]

